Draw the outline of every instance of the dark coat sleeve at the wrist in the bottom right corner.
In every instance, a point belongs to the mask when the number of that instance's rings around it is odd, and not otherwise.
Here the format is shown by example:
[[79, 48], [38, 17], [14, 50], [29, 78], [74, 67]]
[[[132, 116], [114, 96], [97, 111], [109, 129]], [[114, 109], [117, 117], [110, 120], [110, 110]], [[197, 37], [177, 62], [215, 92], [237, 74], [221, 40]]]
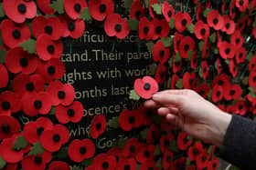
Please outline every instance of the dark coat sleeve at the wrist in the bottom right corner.
[[232, 115], [217, 155], [241, 169], [256, 169], [256, 123], [239, 115]]

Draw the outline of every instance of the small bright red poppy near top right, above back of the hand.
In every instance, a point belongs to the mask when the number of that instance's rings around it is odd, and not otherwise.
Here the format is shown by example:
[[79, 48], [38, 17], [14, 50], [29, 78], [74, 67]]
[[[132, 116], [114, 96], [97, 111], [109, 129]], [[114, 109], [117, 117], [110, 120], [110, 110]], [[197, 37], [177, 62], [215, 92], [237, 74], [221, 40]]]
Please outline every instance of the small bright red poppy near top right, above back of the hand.
[[197, 39], [208, 39], [209, 35], [209, 27], [208, 25], [204, 24], [203, 21], [198, 21], [195, 25], [195, 35], [197, 36]]

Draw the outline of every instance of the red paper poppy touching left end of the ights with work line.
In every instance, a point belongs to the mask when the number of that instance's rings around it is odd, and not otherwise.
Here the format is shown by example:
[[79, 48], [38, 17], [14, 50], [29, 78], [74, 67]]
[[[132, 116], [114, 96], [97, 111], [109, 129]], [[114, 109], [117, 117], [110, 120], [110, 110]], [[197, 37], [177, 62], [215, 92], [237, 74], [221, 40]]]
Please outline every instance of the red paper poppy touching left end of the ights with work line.
[[59, 58], [52, 58], [48, 62], [40, 61], [37, 65], [38, 75], [42, 75], [46, 83], [60, 79], [65, 74], [65, 65]]

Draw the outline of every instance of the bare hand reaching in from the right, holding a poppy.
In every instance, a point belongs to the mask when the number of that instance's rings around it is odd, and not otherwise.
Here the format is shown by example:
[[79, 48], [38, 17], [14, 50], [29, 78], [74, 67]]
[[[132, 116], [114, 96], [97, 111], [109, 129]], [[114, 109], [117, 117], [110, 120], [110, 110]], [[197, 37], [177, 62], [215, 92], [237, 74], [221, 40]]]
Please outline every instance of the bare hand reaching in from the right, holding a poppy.
[[158, 115], [165, 116], [188, 135], [217, 146], [222, 145], [231, 121], [231, 115], [187, 89], [158, 92], [144, 106], [158, 108]]

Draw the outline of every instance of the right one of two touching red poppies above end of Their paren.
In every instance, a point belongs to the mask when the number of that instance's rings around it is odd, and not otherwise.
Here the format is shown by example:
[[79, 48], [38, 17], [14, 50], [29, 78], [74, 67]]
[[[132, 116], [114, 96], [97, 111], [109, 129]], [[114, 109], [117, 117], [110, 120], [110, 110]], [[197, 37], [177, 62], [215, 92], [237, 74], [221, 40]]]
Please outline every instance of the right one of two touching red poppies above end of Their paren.
[[154, 18], [152, 20], [152, 24], [155, 27], [155, 33], [152, 37], [153, 40], [156, 40], [159, 37], [164, 38], [167, 35], [169, 35], [170, 26], [169, 26], [168, 22], [165, 19], [157, 20], [156, 18]]

